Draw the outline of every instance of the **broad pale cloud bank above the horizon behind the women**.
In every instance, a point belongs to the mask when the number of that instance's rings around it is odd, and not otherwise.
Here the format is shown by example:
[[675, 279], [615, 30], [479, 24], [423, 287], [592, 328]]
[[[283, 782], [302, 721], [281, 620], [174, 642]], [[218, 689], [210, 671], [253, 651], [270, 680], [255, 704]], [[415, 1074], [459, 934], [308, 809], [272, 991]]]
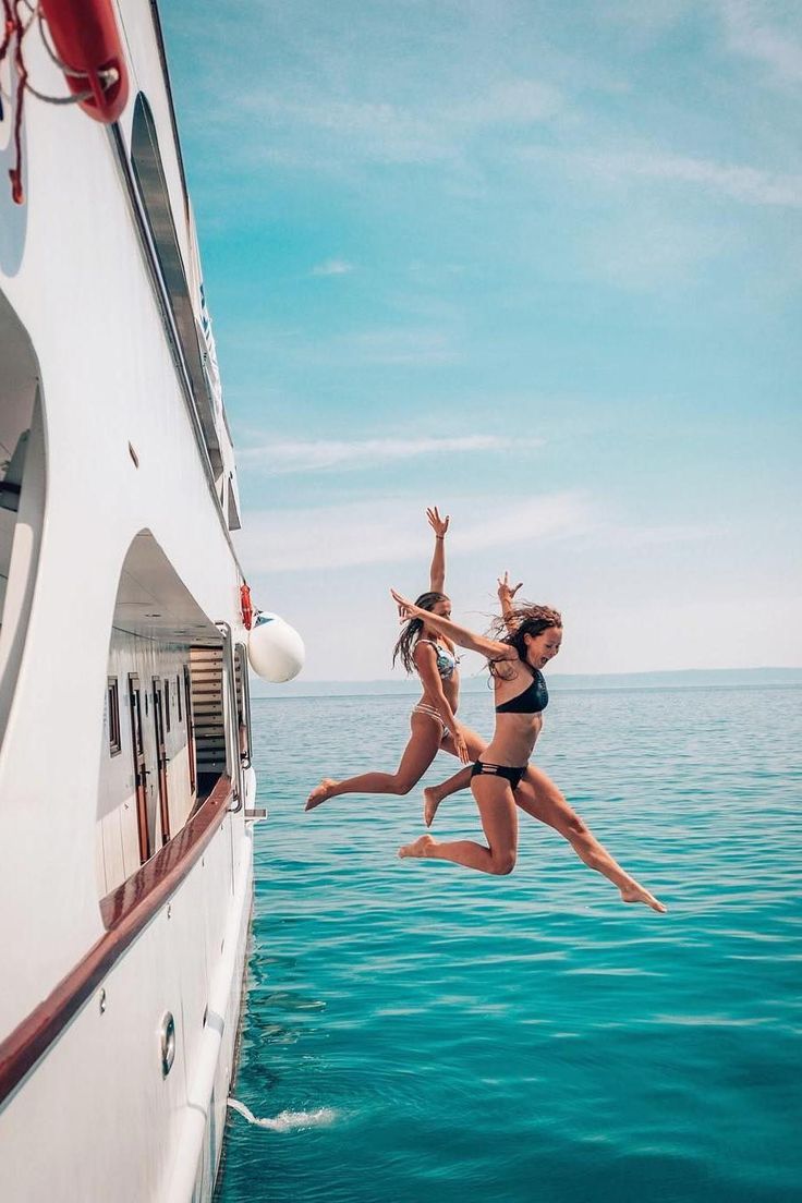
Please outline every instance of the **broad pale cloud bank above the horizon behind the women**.
[[[708, 528], [712, 538], [701, 541], [705, 528], [637, 527], [630, 515], [580, 493], [513, 503], [458, 497], [448, 506], [446, 588], [457, 621], [487, 628], [497, 610], [495, 576], [509, 568], [516, 581], [523, 577], [525, 598], [563, 612], [565, 641], [554, 672], [802, 663], [797, 579], [785, 569], [755, 574], [749, 557], [721, 574], [720, 531]], [[388, 586], [417, 593], [428, 576], [430, 532], [422, 506], [416, 514], [409, 498], [396, 498], [338, 506], [331, 518], [311, 510], [253, 517], [243, 532], [243, 563], [254, 597], [302, 633], [307, 680], [388, 677], [398, 634]], [[313, 523], [317, 546], [309, 541]], [[321, 562], [319, 545], [332, 539], [351, 541], [358, 563], [350, 555]], [[672, 541], [688, 545], [687, 555], [671, 552]], [[744, 614], [766, 617], [758, 641]], [[468, 653], [463, 675], [481, 670], [481, 659]], [[489, 705], [488, 697], [488, 717]]]

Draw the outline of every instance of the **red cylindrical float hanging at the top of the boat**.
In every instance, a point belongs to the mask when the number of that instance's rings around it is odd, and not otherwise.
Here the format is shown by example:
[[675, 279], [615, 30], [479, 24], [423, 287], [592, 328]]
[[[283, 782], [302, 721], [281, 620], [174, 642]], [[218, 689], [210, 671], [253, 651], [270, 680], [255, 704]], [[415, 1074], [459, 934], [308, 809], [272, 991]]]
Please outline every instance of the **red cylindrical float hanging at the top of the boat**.
[[125, 108], [129, 75], [112, 0], [40, 0], [67, 87], [84, 113], [108, 125]]

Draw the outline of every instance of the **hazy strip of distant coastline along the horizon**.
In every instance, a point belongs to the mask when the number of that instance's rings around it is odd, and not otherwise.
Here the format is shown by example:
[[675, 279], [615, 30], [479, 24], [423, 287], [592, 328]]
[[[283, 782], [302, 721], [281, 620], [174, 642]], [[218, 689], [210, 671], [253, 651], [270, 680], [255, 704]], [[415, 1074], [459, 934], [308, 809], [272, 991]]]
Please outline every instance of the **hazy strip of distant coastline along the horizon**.
[[[802, 668], [681, 669], [659, 672], [551, 672], [548, 688], [560, 689], [700, 689], [737, 686], [802, 686]], [[463, 676], [468, 693], [487, 689], [485, 674]], [[286, 685], [251, 681], [254, 698], [341, 698], [364, 694], [414, 694], [420, 686], [412, 677], [400, 681], [304, 681]]]

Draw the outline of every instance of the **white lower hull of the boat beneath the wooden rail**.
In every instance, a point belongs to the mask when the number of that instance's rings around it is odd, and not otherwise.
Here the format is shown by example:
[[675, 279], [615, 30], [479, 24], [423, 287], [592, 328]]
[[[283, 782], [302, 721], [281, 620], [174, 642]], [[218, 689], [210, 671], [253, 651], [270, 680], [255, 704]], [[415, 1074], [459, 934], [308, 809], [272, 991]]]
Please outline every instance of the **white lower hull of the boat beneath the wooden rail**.
[[[219, 1156], [250, 914], [250, 837], [236, 819], [226, 820], [171, 899], [170, 917], [165, 905], [103, 980], [106, 1011], [96, 991], [0, 1114], [4, 1201], [179, 1198], [170, 1184], [179, 1163], [180, 1180], [188, 1180], [184, 1140], [197, 1127], [196, 1107], [208, 1136], [212, 1086]], [[221, 1039], [203, 1023], [207, 1003], [215, 1024], [214, 1015], [224, 1017]], [[164, 1078], [159, 1025], [167, 1011], [176, 1019], [177, 1051]], [[198, 1083], [208, 1086], [206, 1097]], [[192, 1136], [188, 1149], [200, 1161], [203, 1150]], [[195, 1174], [188, 1203], [194, 1183]], [[207, 1175], [197, 1197], [208, 1199], [210, 1191]]]

